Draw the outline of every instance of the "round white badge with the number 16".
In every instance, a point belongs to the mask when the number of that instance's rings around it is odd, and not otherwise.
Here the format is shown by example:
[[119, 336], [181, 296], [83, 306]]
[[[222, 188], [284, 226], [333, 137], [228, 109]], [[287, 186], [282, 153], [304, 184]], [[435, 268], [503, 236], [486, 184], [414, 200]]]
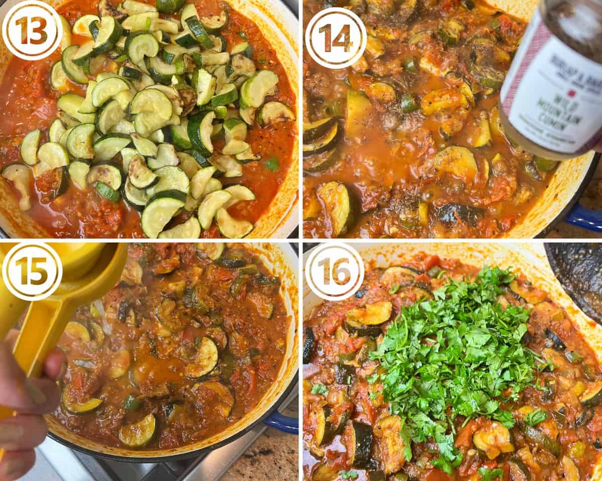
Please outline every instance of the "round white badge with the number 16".
[[305, 263], [305, 279], [321, 299], [343, 301], [364, 282], [364, 262], [358, 251], [343, 242], [320, 244]]

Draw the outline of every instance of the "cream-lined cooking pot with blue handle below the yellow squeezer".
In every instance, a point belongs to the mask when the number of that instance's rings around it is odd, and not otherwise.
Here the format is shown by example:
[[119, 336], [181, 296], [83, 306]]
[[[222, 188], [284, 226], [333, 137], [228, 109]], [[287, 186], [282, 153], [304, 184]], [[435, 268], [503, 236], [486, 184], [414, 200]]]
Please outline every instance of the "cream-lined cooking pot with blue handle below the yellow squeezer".
[[198, 443], [174, 449], [133, 450], [105, 446], [88, 440], [67, 429], [54, 417], [46, 416], [49, 436], [58, 443], [97, 458], [125, 462], [168, 462], [176, 459], [193, 458], [211, 450], [225, 446], [244, 435], [259, 423], [265, 423], [291, 434], [297, 434], [298, 420], [285, 417], [276, 409], [282, 400], [296, 387], [297, 364], [299, 358], [299, 337], [297, 319], [299, 318], [299, 258], [290, 244], [243, 244], [249, 251], [261, 259], [270, 274], [281, 278], [280, 294], [288, 313], [287, 350], [278, 379], [264, 394], [259, 404], [232, 424], [223, 432]]

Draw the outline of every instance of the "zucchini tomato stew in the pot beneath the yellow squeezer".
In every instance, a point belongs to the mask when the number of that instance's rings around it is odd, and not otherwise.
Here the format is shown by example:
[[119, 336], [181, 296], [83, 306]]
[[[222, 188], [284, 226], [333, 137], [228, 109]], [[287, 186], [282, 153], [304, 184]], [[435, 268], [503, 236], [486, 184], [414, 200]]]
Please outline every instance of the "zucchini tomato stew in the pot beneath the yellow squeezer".
[[286, 351], [279, 278], [244, 248], [202, 249], [132, 244], [120, 284], [78, 309], [59, 343], [62, 424], [107, 446], [169, 449], [258, 404]]

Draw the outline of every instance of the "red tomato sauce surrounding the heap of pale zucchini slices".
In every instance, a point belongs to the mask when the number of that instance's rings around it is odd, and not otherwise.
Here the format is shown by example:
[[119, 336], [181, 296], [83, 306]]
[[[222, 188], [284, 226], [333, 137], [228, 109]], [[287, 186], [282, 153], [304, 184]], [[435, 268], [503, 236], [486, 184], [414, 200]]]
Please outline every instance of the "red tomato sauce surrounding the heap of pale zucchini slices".
[[[152, 2], [147, 2], [152, 3]], [[284, 67], [279, 62], [275, 49], [264, 37], [252, 20], [232, 10], [228, 4], [217, 0], [197, 2], [199, 16], [219, 13], [228, 8], [229, 21], [220, 32], [228, 41], [228, 48], [246, 40], [253, 46], [253, 61], [258, 69], [270, 69], [279, 76], [278, 93], [267, 97], [266, 102], [276, 100], [296, 109], [296, 94], [288, 82]], [[73, 0], [57, 8], [73, 25], [84, 14], [98, 14], [96, 2]], [[167, 17], [161, 15], [162, 17]], [[244, 38], [243, 38], [244, 37]], [[85, 37], [73, 35], [72, 43], [83, 44]], [[25, 61], [12, 58], [0, 84], [0, 107], [4, 115], [0, 117], [0, 169], [15, 162], [22, 162], [19, 148], [23, 137], [31, 130], [48, 129], [57, 118], [56, 101], [63, 92], [54, 90], [49, 84], [49, 72], [52, 64], [60, 60], [60, 50], [40, 61]], [[86, 86], [69, 82], [69, 91], [85, 96]], [[230, 207], [229, 212], [235, 218], [244, 218], [256, 222], [272, 203], [273, 198], [290, 168], [293, 156], [294, 138], [297, 135], [296, 123], [287, 121], [261, 129], [249, 128], [246, 141], [253, 152], [261, 154], [261, 161], [243, 165], [243, 176], [233, 179], [220, 179], [223, 186], [243, 184], [256, 195], [256, 200], [238, 203]], [[45, 135], [42, 142], [47, 141]], [[216, 142], [216, 146], [222, 144]], [[278, 159], [278, 168], [267, 167], [268, 159]], [[117, 157], [119, 159], [119, 156]], [[55, 197], [47, 195], [47, 188], [36, 179], [31, 192], [32, 207], [28, 210], [37, 224], [54, 237], [144, 237], [140, 226], [140, 213], [125, 200], [111, 202], [98, 195], [93, 185], [85, 191], [72, 183], [66, 191]], [[13, 189], [18, 198], [19, 193]], [[173, 222], [187, 218], [187, 214], [178, 216]], [[169, 228], [169, 225], [166, 226]], [[202, 237], [219, 237], [219, 230], [212, 225], [203, 231]]]

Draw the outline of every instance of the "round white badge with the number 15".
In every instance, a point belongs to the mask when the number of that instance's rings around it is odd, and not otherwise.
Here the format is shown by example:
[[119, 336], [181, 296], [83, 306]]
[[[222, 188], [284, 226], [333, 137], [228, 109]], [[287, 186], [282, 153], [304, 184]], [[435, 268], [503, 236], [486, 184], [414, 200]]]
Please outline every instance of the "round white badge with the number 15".
[[22, 242], [4, 257], [2, 278], [19, 299], [40, 301], [57, 290], [63, 278], [63, 264], [48, 244]]

